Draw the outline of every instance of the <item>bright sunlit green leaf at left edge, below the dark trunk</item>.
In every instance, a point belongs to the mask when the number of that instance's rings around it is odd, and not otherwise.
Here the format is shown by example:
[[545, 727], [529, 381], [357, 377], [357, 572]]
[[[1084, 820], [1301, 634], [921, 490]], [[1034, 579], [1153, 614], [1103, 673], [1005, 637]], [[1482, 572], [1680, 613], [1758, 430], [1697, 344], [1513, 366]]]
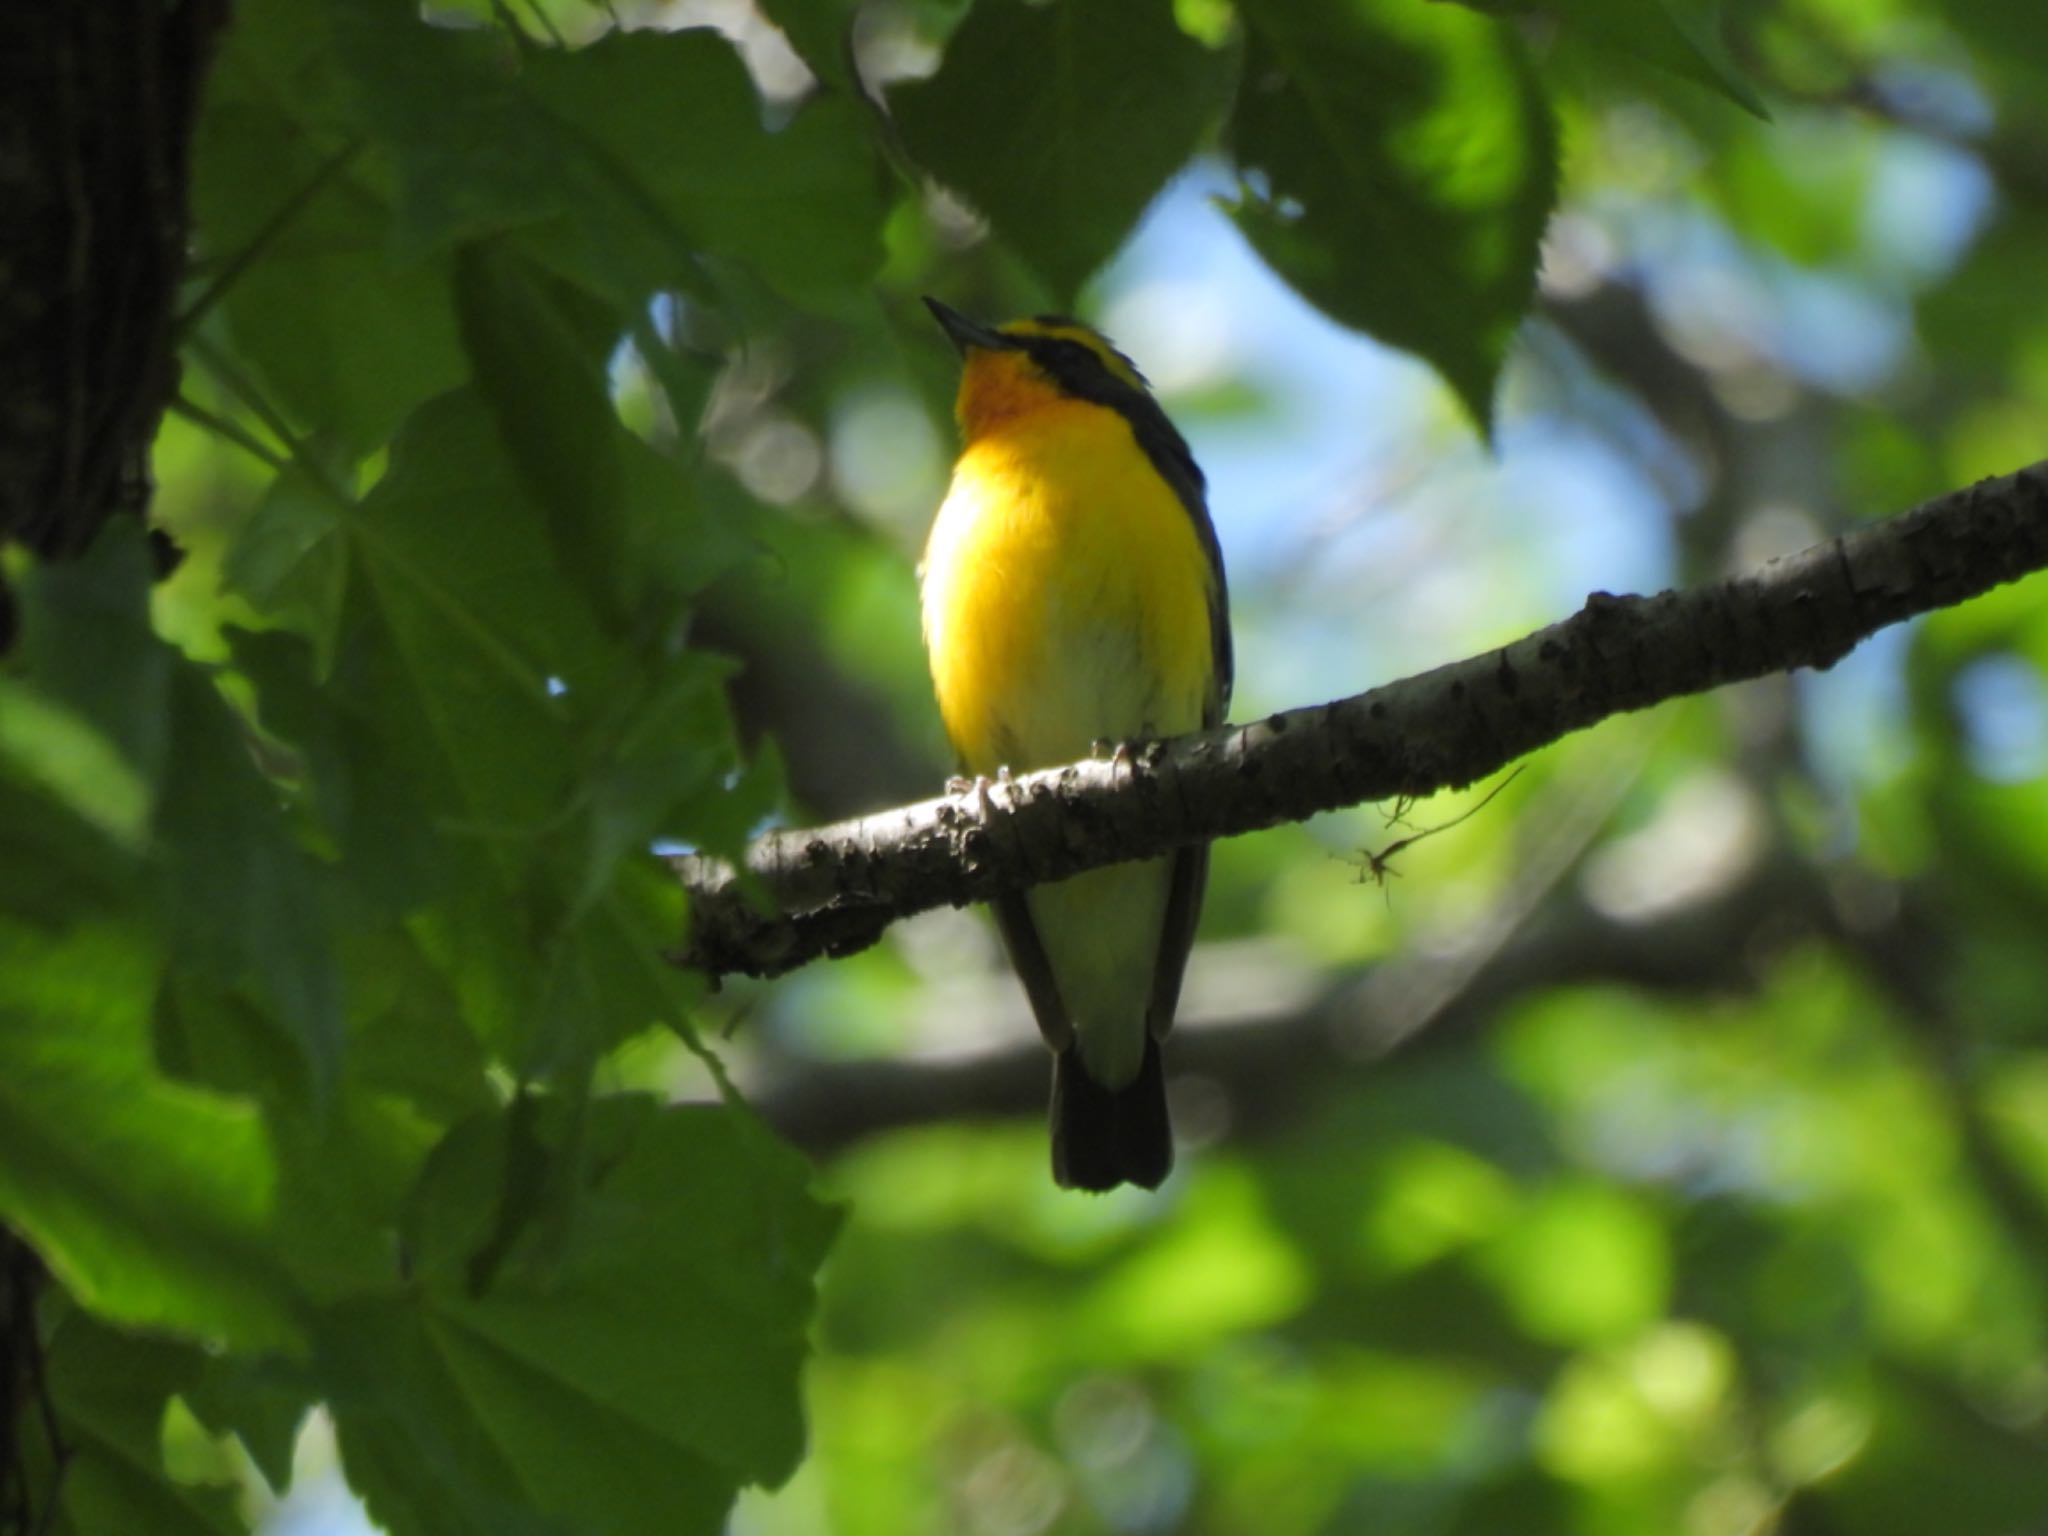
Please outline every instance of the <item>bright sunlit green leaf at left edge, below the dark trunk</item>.
[[254, 1106], [156, 1071], [160, 969], [119, 928], [0, 922], [0, 1217], [100, 1317], [287, 1346], [268, 1137]]

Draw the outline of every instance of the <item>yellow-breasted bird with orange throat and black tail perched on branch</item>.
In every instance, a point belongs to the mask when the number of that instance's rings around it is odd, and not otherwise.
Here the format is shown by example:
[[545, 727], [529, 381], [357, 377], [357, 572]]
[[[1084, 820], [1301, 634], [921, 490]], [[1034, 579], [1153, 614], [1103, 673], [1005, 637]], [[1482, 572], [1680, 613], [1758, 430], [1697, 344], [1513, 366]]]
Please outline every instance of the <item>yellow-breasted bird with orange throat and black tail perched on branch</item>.
[[[1202, 471], [1145, 379], [1061, 315], [989, 328], [926, 299], [961, 350], [961, 459], [924, 553], [924, 643], [965, 772], [1026, 772], [1223, 721], [1223, 553]], [[1208, 848], [993, 903], [1055, 1051], [1053, 1178], [1153, 1190], [1174, 1165], [1159, 1042]]]

